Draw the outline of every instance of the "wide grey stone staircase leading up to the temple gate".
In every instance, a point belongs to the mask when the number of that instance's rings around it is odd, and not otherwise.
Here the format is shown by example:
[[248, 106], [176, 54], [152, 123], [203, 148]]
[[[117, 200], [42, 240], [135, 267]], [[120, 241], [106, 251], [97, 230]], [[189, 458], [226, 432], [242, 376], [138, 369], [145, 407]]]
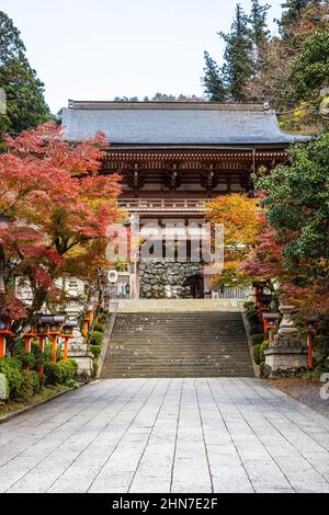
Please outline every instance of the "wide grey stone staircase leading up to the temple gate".
[[158, 307], [157, 312], [122, 308], [101, 373], [102, 378], [253, 375], [242, 317], [232, 307], [219, 311]]

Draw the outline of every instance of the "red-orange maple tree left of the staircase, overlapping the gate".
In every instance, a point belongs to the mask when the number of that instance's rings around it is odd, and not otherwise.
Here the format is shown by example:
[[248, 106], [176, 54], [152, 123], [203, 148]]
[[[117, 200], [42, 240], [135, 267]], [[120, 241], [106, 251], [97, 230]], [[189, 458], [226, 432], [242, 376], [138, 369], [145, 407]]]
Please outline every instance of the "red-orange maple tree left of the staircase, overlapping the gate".
[[[15, 318], [46, 302], [60, 302], [56, 279], [66, 274], [92, 281], [105, 264], [106, 227], [122, 220], [118, 175], [101, 175], [104, 136], [69, 144], [63, 129], [43, 125], [4, 136], [0, 156], [0, 244], [7, 267], [5, 305]], [[13, 278], [29, 285], [23, 307]]]

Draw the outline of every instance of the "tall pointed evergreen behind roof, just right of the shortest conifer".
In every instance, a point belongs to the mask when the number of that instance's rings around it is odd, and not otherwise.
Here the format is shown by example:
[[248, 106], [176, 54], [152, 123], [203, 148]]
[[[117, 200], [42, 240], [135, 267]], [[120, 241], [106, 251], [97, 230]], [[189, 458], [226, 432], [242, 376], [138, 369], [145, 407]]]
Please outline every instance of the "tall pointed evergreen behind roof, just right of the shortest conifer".
[[231, 32], [219, 33], [226, 43], [223, 73], [230, 99], [235, 102], [246, 102], [246, 84], [253, 72], [253, 42], [248, 21], [241, 5], [237, 4]]

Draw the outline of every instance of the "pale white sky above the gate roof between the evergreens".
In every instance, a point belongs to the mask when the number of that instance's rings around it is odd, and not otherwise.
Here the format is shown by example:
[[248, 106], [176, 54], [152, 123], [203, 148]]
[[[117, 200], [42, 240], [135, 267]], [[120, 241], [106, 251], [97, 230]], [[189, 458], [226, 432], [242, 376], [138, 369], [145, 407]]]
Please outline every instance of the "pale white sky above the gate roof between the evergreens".
[[[277, 33], [283, 0], [270, 0]], [[202, 94], [203, 53], [222, 61], [237, 0], [1, 0], [53, 113], [72, 100]], [[250, 0], [240, 0], [249, 10]], [[263, 1], [262, 3], [265, 3]]]

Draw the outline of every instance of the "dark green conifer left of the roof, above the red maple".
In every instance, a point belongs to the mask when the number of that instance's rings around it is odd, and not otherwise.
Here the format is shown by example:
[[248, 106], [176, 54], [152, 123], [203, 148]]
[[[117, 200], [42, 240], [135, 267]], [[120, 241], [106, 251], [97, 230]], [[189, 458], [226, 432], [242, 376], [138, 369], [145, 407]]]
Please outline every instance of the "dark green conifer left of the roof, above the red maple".
[[0, 88], [7, 95], [7, 114], [0, 115], [0, 133], [21, 133], [50, 117], [44, 84], [25, 56], [20, 31], [0, 11]]

